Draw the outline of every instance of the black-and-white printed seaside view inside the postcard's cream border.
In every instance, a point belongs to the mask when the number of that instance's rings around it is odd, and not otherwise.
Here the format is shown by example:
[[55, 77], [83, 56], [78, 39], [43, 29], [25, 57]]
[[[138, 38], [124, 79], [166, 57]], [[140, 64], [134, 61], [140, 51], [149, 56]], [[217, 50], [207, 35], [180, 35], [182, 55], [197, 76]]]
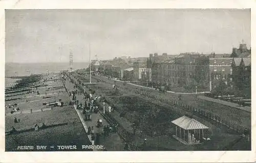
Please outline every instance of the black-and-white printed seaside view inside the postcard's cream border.
[[253, 150], [251, 8], [6, 9], [4, 42], [8, 155]]

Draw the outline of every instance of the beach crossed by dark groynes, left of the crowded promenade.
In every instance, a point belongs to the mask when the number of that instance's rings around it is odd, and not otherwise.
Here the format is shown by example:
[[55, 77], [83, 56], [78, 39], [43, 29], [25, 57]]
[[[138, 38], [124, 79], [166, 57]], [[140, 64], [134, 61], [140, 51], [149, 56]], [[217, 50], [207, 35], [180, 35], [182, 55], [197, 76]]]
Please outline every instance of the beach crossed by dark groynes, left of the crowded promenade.
[[[82, 128], [74, 106], [69, 105], [70, 98], [63, 87], [60, 74], [41, 76], [33, 85], [39, 87], [26, 87], [29, 91], [18, 93], [10, 92], [22, 89], [6, 91], [6, 96], [9, 96], [6, 99], [19, 98], [5, 102], [6, 151], [19, 151], [20, 145], [45, 145], [48, 151], [57, 150], [50, 148], [52, 145], [89, 145], [87, 133]], [[52, 107], [43, 104], [54, 101], [62, 101], [63, 106]], [[18, 123], [14, 122], [15, 118]], [[42, 123], [47, 128], [40, 129]], [[34, 130], [36, 124], [39, 126], [38, 131]], [[16, 133], [10, 132], [12, 127]]]

